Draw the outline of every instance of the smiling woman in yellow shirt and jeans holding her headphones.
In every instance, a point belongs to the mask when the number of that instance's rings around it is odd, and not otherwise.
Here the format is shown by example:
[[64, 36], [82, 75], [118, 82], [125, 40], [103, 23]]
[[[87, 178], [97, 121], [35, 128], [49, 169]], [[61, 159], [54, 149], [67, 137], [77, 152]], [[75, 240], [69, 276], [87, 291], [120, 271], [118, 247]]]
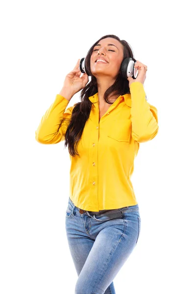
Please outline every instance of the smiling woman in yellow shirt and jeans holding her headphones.
[[[127, 57], [136, 61], [126, 41], [100, 38], [87, 53], [86, 73], [81, 75], [78, 60], [36, 131], [40, 143], [65, 140], [69, 146], [66, 233], [76, 294], [115, 294], [113, 279], [140, 235], [130, 177], [140, 143], [153, 139], [159, 127], [143, 86], [147, 66], [137, 60], [137, 78], [125, 79], [120, 68]], [[67, 108], [81, 89], [81, 102]]]

